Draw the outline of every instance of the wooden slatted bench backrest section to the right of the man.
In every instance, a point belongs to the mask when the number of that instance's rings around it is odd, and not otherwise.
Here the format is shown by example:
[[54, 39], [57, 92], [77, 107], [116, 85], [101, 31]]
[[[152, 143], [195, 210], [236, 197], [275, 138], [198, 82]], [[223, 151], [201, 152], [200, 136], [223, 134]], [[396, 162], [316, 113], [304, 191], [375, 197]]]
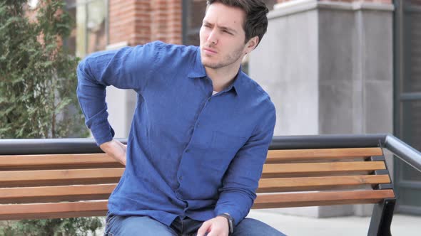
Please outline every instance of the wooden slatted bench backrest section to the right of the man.
[[380, 148], [272, 150], [253, 208], [378, 203], [395, 198]]

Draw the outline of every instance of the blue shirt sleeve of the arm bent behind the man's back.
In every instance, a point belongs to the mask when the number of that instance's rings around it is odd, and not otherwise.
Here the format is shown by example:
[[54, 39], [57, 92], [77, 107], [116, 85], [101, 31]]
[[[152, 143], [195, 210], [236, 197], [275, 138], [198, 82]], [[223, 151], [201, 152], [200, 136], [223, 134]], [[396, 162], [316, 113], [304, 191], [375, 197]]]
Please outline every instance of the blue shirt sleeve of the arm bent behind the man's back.
[[108, 122], [106, 86], [141, 93], [151, 78], [152, 65], [158, 60], [157, 44], [93, 53], [79, 63], [76, 93], [85, 124], [98, 145], [111, 141], [114, 135]]

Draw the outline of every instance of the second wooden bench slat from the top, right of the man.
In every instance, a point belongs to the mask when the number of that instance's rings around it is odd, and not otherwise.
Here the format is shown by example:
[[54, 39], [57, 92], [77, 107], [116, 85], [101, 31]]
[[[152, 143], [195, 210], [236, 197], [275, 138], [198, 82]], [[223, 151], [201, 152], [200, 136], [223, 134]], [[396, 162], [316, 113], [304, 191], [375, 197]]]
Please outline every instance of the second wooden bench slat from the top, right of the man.
[[384, 161], [353, 161], [328, 163], [283, 163], [265, 164], [263, 177], [285, 173], [326, 173], [342, 171], [375, 171], [385, 169]]

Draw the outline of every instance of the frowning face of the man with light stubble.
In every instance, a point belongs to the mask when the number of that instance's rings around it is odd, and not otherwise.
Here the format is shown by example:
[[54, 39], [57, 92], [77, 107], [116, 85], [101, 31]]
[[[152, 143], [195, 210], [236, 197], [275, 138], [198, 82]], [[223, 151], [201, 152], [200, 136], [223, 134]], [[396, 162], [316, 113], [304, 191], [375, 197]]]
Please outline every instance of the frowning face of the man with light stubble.
[[207, 68], [240, 65], [245, 50], [245, 12], [215, 2], [208, 6], [201, 27], [201, 60]]

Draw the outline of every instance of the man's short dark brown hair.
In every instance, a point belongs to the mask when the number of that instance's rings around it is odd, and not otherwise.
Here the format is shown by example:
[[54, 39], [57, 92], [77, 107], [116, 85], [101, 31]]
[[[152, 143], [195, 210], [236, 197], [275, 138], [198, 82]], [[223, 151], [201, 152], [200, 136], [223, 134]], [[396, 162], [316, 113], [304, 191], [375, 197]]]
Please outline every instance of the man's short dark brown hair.
[[258, 43], [262, 41], [263, 36], [268, 28], [269, 10], [265, 3], [261, 0], [208, 0], [206, 4], [210, 6], [215, 2], [220, 2], [226, 6], [235, 6], [245, 11], [245, 21], [243, 28], [245, 31], [245, 43], [254, 36], [259, 37]]

